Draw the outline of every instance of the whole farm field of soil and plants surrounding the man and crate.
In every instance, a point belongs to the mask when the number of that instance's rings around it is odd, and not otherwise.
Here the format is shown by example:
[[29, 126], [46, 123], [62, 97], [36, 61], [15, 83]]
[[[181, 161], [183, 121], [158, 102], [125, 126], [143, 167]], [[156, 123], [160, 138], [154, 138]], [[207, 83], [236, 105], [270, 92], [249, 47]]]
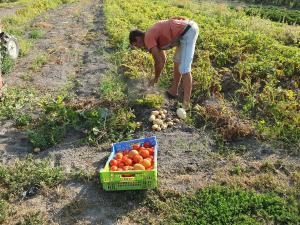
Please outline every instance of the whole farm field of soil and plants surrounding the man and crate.
[[[299, 11], [192, 0], [0, 3], [0, 13], [16, 7], [1, 23], [21, 49], [1, 63], [0, 224], [300, 223]], [[185, 120], [154, 131], [150, 113], [175, 117], [181, 103], [163, 95], [174, 50], [151, 91], [152, 56], [129, 48], [128, 35], [174, 16], [200, 28], [192, 104]], [[158, 188], [101, 189], [111, 144], [146, 136], [158, 140]]]

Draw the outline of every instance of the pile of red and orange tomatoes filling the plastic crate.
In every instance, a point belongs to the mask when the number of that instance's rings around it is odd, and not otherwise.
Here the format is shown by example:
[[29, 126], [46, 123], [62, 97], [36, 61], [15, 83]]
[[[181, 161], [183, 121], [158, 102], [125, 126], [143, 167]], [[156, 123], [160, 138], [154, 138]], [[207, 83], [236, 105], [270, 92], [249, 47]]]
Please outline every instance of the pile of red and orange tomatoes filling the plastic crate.
[[110, 171], [153, 170], [154, 147], [150, 142], [133, 144], [131, 150], [118, 151], [109, 165]]

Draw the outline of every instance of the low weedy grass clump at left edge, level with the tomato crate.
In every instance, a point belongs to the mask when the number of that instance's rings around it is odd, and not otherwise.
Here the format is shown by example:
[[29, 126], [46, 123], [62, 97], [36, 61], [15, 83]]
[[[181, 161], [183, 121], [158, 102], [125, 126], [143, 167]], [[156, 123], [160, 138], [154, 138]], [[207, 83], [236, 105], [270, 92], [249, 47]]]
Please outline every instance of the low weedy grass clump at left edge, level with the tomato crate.
[[53, 187], [64, 179], [62, 169], [52, 167], [49, 160], [37, 161], [28, 157], [13, 165], [0, 164], [1, 197], [20, 197], [30, 187]]

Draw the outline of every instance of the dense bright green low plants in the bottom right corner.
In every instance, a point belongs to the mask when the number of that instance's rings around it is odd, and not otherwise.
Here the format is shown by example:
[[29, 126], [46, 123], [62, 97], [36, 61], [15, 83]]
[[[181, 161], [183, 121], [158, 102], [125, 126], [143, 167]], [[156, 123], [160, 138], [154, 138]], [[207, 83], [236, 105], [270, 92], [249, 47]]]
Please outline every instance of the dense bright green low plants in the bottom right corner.
[[226, 187], [206, 188], [183, 198], [174, 224], [297, 224], [295, 203], [275, 194]]

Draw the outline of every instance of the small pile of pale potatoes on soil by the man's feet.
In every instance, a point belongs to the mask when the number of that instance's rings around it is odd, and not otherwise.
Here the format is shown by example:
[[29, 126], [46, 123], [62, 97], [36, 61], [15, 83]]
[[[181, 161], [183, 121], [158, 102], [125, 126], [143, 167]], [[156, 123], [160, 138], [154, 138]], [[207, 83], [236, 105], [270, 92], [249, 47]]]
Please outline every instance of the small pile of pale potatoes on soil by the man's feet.
[[149, 121], [153, 123], [152, 130], [161, 131], [174, 126], [179, 119], [172, 119], [168, 116], [167, 110], [152, 111]]

